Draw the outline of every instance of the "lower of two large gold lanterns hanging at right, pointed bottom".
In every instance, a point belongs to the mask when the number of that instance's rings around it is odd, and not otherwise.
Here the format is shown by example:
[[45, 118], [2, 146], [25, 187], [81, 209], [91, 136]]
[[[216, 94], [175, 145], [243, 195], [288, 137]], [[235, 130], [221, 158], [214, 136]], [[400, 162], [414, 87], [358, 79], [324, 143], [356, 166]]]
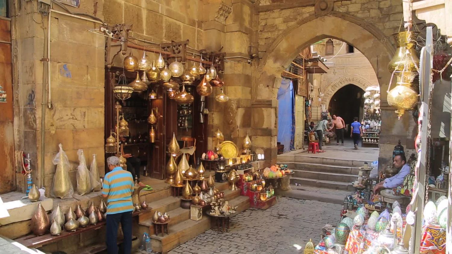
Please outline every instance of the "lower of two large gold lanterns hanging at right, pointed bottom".
[[413, 80], [416, 73], [395, 73], [397, 85], [388, 92], [387, 101], [389, 106], [396, 108], [398, 118], [407, 110], [412, 110], [418, 102], [418, 92], [413, 89]]

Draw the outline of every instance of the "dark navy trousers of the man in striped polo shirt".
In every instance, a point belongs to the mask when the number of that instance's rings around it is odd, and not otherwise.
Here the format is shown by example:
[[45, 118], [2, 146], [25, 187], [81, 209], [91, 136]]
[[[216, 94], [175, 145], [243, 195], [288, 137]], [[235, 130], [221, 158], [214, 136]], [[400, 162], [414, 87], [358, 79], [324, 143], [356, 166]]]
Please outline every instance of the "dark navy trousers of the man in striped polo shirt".
[[124, 254], [132, 252], [132, 212], [107, 214], [107, 252], [118, 254], [118, 226], [121, 222], [124, 235]]

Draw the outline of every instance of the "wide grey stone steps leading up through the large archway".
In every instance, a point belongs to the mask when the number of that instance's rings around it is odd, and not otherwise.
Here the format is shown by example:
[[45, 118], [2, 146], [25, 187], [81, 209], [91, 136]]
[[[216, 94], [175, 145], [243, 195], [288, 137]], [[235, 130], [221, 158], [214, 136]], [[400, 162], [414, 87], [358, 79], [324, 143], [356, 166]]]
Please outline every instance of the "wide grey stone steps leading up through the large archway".
[[290, 180], [292, 190], [281, 194], [329, 203], [342, 203], [344, 196], [355, 190], [352, 182], [358, 178], [358, 167], [365, 162], [306, 154], [281, 154], [277, 160], [295, 173]]

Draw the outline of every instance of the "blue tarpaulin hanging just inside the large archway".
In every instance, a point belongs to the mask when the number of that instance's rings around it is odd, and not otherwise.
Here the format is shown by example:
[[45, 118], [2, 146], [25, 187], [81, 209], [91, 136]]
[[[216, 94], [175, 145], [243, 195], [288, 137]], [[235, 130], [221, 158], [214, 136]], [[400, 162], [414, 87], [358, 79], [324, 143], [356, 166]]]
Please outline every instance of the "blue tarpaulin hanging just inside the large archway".
[[278, 89], [278, 142], [284, 145], [284, 152], [294, 149], [295, 135], [295, 98], [293, 84], [289, 79], [282, 79]]

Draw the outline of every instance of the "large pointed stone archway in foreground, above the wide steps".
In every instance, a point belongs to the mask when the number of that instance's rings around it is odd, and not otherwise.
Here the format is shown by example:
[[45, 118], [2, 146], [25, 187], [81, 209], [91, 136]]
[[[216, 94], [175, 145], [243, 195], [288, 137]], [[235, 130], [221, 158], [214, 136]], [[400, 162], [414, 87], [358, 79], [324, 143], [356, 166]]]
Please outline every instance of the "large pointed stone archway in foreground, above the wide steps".
[[[388, 35], [389, 36], [389, 35]], [[386, 102], [387, 84], [391, 73], [386, 66], [391, 60], [395, 46], [388, 37], [371, 23], [355, 16], [332, 11], [326, 16], [310, 17], [298, 20], [287, 28], [267, 48], [259, 63], [252, 87], [252, 126], [253, 143], [256, 148], [264, 148], [269, 161], [264, 166], [276, 163], [277, 157], [277, 115], [278, 102], [276, 96], [281, 73], [304, 48], [325, 38], [335, 38], [356, 47], [369, 60], [377, 74], [381, 86], [381, 120], [383, 126], [380, 136], [380, 165], [384, 166], [390, 157], [395, 141], [401, 139], [406, 142], [406, 129], [410, 125], [410, 116], [405, 114], [397, 121], [394, 109]], [[414, 140], [414, 139], [413, 139]], [[379, 159], [380, 160], [380, 159]]]

